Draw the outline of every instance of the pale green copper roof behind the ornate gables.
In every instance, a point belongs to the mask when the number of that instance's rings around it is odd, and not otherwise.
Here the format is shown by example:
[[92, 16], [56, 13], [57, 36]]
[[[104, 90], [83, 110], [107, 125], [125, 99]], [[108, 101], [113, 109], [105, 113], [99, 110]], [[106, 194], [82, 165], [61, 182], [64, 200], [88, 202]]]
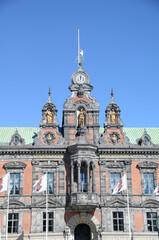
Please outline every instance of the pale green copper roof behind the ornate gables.
[[[40, 131], [39, 127], [0, 127], [0, 143], [9, 143], [16, 129], [20, 136], [24, 138], [25, 144], [32, 143]], [[126, 133], [131, 143], [136, 143], [136, 139], [143, 135], [145, 129], [151, 137], [152, 143], [159, 144], [159, 128], [123, 128], [123, 132]], [[100, 133], [103, 131], [104, 129], [100, 128]]]

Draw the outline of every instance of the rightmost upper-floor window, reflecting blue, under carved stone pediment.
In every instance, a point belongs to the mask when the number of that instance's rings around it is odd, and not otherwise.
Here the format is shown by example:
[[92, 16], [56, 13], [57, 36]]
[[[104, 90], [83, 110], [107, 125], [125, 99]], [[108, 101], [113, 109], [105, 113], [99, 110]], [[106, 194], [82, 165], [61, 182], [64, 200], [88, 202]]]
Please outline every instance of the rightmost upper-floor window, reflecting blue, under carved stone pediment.
[[154, 191], [154, 176], [153, 173], [144, 173], [144, 193], [152, 194]]

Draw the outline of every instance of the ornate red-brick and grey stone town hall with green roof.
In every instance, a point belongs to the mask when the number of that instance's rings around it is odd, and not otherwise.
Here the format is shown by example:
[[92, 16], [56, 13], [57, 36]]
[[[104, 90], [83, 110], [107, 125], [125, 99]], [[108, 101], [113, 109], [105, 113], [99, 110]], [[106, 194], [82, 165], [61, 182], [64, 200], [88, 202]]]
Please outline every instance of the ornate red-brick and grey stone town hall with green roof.
[[[62, 126], [49, 90], [39, 127], [0, 128], [0, 177], [10, 174], [0, 239], [158, 239], [159, 128], [124, 128], [113, 90], [101, 128], [92, 89], [79, 61]], [[32, 191], [45, 174], [47, 199]], [[125, 174], [127, 189], [113, 194]]]

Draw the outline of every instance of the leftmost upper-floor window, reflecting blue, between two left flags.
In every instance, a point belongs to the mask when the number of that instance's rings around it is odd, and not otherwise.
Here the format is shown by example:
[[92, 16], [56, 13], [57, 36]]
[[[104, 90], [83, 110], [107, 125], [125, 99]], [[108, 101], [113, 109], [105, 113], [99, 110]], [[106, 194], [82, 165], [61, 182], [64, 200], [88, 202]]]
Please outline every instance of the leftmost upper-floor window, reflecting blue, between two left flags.
[[11, 195], [20, 194], [20, 173], [10, 174], [10, 194]]

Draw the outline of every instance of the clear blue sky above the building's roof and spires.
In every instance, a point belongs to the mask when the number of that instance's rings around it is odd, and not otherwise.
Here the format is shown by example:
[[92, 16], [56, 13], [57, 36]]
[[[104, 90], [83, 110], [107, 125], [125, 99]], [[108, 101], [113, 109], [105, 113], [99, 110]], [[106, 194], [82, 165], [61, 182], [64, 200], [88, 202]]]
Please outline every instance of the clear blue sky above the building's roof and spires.
[[38, 127], [49, 86], [61, 125], [78, 28], [101, 127], [111, 88], [125, 127], [159, 127], [158, 0], [0, 0], [0, 126]]

